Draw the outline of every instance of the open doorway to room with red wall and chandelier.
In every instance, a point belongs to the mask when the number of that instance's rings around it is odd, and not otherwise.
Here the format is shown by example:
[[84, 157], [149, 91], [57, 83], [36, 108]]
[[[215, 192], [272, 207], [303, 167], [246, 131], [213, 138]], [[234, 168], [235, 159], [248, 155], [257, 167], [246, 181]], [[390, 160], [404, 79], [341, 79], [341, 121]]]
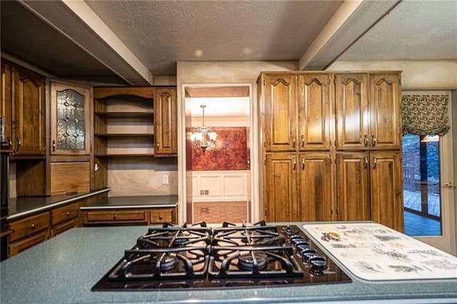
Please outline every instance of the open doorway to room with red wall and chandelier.
[[[188, 85], [183, 92], [186, 222], [251, 221], [251, 85]], [[204, 148], [203, 129], [212, 132]]]

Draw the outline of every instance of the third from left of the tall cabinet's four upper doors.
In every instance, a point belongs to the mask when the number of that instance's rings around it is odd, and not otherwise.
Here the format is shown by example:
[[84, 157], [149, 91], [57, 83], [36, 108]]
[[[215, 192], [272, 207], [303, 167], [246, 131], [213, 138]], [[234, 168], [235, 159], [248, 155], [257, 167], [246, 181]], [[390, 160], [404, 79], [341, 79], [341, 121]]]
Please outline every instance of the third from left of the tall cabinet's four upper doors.
[[336, 74], [335, 76], [336, 149], [368, 148], [368, 76]]

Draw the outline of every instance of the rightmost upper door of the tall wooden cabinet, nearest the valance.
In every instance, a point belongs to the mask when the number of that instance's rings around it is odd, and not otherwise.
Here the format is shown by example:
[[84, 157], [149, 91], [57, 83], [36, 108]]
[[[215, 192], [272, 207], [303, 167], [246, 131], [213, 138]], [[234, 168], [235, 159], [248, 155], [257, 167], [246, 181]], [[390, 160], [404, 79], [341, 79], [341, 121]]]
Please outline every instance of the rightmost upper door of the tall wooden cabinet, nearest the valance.
[[398, 74], [370, 75], [370, 147], [401, 148], [401, 88]]

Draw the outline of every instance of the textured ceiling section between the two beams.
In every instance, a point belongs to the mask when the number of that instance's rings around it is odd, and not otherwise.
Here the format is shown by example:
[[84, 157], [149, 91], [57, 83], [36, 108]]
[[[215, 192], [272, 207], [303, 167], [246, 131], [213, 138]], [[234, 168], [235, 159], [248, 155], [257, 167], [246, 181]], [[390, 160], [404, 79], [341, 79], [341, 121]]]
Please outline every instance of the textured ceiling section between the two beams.
[[341, 1], [91, 1], [152, 74], [176, 61], [298, 60]]

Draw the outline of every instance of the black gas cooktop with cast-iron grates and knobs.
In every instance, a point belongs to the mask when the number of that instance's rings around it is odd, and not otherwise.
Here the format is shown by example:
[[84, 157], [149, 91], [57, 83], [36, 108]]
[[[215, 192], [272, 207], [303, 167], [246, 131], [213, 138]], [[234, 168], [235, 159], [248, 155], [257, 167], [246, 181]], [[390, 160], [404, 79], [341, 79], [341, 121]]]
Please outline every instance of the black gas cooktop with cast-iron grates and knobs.
[[149, 228], [92, 290], [248, 288], [351, 282], [297, 226]]

